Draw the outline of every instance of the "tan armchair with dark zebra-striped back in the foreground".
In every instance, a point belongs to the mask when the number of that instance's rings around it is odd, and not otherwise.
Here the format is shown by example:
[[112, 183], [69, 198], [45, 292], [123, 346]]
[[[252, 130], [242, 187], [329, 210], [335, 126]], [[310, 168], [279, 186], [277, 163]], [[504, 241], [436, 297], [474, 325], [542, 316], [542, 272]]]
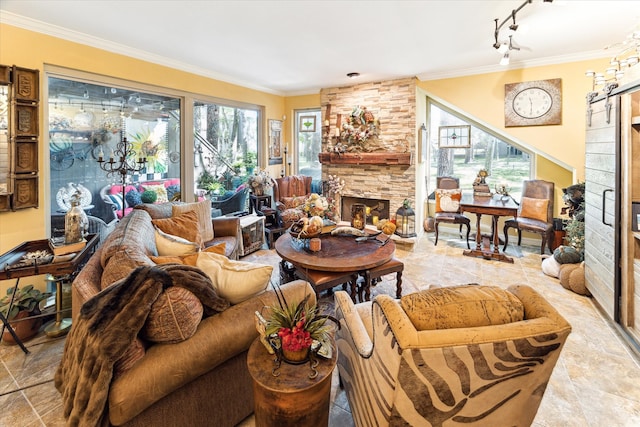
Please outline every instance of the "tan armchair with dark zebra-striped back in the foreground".
[[536, 291], [465, 285], [354, 304], [335, 293], [355, 425], [528, 426], [571, 326]]

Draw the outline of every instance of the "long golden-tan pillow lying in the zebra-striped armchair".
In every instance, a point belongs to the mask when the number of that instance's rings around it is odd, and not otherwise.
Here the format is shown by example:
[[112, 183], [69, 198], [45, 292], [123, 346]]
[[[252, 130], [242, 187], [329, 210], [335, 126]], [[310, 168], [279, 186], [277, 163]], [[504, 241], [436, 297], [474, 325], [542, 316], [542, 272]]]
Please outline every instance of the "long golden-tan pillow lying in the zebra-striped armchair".
[[405, 295], [402, 308], [417, 330], [503, 325], [524, 319], [524, 306], [497, 286], [462, 285]]

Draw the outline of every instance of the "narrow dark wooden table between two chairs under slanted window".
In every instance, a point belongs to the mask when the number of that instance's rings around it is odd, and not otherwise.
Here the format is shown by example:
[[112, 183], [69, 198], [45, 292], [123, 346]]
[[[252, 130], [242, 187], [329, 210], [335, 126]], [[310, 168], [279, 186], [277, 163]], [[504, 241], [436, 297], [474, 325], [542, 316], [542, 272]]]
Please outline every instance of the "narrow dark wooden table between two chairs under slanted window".
[[[501, 216], [518, 216], [518, 205], [513, 199], [497, 196], [476, 197], [465, 194], [460, 201], [460, 211], [476, 214], [476, 248], [464, 251], [464, 255], [513, 263], [513, 258], [500, 251], [500, 239], [498, 238], [498, 219]], [[484, 248], [482, 244], [483, 236], [480, 230], [482, 215], [492, 216], [493, 251]]]

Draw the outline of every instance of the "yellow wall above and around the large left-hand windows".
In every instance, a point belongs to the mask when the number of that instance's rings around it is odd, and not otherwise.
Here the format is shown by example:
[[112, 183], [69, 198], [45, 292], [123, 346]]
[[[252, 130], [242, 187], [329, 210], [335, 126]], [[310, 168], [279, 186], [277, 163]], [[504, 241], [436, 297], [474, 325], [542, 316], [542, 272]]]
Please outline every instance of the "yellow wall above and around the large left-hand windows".
[[[0, 63], [40, 70], [41, 88], [44, 87], [46, 80], [43, 70], [47, 65], [55, 65], [133, 82], [142, 82], [161, 88], [261, 105], [265, 108], [266, 118], [280, 119], [284, 114], [284, 97], [282, 96], [151, 64], [10, 25], [0, 24]], [[44, 100], [41, 99], [42, 102]], [[40, 111], [42, 112], [42, 108]], [[45, 233], [48, 217], [44, 206], [47, 205], [46, 200], [51, 195], [48, 194], [47, 171], [45, 170], [45, 158], [48, 155], [48, 150], [44, 144], [48, 126], [46, 118], [42, 116], [43, 114], [40, 117], [41, 150], [39, 159], [41, 207], [17, 212], [0, 212], [0, 253], [8, 251], [24, 241], [47, 237]], [[266, 138], [266, 120], [263, 132]], [[0, 289], [6, 287], [6, 283], [2, 285]], [[0, 293], [2, 292], [0, 291]]]

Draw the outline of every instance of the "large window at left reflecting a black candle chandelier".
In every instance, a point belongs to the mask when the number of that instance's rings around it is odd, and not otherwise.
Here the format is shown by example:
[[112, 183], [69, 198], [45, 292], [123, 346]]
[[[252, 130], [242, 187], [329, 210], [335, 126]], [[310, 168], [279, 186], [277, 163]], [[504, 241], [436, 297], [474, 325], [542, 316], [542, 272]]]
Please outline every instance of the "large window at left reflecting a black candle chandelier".
[[[171, 180], [179, 193], [179, 98], [53, 76], [48, 77], [48, 91], [53, 228], [59, 228], [60, 217], [64, 218], [75, 191], [80, 191], [85, 210], [106, 222], [114, 218], [112, 207], [121, 202], [105, 204], [101, 192], [109, 194], [111, 187], [122, 184], [123, 178], [137, 189], [142, 183]], [[135, 165], [140, 158], [146, 162], [137, 165], [139, 170], [123, 176], [109, 170], [121, 164], [118, 145], [124, 138], [130, 148], [129, 163]], [[100, 156], [106, 160], [102, 167]], [[114, 163], [109, 167], [111, 157]]]

